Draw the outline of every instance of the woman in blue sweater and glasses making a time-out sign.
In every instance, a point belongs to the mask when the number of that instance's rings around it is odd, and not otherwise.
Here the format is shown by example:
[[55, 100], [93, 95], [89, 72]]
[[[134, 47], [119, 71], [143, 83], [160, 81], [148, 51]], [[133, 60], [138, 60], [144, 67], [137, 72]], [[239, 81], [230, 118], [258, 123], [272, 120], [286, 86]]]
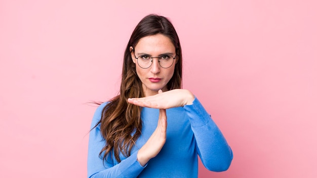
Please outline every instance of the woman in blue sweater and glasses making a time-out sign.
[[209, 170], [229, 167], [230, 147], [181, 80], [173, 25], [144, 17], [125, 51], [120, 95], [93, 117], [88, 177], [197, 177], [197, 155]]

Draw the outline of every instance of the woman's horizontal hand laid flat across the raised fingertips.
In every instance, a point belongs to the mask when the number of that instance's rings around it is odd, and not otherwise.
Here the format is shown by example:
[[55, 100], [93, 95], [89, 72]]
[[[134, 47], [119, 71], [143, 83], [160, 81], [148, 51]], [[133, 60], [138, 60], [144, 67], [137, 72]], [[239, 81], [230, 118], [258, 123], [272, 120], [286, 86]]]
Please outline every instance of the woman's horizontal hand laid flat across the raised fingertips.
[[174, 89], [143, 98], [129, 98], [128, 102], [141, 107], [168, 109], [192, 104], [194, 95], [186, 89]]

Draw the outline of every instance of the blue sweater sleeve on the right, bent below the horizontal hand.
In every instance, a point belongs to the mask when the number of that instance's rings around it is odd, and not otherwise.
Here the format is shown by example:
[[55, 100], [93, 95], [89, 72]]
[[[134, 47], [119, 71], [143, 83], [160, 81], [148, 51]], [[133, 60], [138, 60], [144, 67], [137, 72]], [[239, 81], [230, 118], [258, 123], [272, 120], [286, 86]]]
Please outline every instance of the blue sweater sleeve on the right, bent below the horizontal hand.
[[233, 158], [232, 150], [221, 131], [195, 97], [191, 105], [183, 106], [196, 140], [196, 151], [204, 166], [212, 171], [227, 170]]

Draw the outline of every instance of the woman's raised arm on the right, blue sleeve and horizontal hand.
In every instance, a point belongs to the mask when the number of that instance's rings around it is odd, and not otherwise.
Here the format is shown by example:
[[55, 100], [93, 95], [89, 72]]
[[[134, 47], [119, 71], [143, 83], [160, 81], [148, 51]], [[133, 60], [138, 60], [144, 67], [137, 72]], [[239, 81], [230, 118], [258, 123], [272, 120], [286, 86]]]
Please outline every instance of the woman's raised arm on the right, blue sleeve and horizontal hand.
[[205, 167], [213, 171], [228, 169], [232, 151], [217, 125], [194, 95], [184, 89], [175, 89], [143, 98], [130, 98], [129, 103], [152, 108], [183, 107], [189, 116], [196, 140], [196, 150]]

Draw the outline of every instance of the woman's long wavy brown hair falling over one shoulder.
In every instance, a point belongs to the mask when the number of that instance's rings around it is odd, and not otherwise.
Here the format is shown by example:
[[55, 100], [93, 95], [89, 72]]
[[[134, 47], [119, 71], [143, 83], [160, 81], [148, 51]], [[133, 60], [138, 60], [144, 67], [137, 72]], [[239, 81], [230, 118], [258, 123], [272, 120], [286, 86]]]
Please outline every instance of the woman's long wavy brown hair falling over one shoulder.
[[112, 156], [112, 151], [118, 162], [121, 161], [120, 153], [126, 157], [130, 156], [133, 146], [141, 135], [141, 108], [127, 102], [128, 98], [144, 97], [142, 83], [136, 73], [136, 64], [131, 58], [130, 46], [134, 47], [141, 38], [155, 34], [169, 37], [175, 46], [178, 61], [167, 87], [169, 90], [181, 88], [182, 51], [178, 35], [166, 17], [150, 14], [136, 26], [125, 50], [120, 94], [112, 98], [103, 108], [101, 120], [97, 123], [100, 124], [100, 132], [106, 140], [99, 154], [103, 160], [108, 154]]

